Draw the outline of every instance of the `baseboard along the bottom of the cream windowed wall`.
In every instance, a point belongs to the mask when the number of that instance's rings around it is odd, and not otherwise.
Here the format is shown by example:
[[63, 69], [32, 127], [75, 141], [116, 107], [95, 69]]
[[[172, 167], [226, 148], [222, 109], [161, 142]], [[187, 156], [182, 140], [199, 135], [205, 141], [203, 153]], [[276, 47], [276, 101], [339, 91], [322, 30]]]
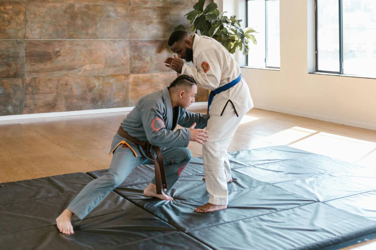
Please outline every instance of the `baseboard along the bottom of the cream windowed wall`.
[[362, 129], [376, 130], [376, 125], [374, 124], [359, 123], [357, 121], [343, 120], [343, 119], [335, 118], [335, 117], [327, 117], [324, 115], [300, 112], [300, 111], [296, 111], [293, 109], [284, 109], [284, 108], [278, 108], [278, 107], [273, 107], [273, 106], [268, 106], [268, 105], [255, 105], [255, 108], [264, 109], [268, 111], [275, 111], [275, 112], [280, 112], [280, 113], [285, 113], [285, 114], [290, 114], [290, 115], [298, 115], [298, 116], [317, 119], [321, 121], [329, 121], [332, 123], [343, 124], [343, 125], [352, 126], [352, 127], [359, 127]]

